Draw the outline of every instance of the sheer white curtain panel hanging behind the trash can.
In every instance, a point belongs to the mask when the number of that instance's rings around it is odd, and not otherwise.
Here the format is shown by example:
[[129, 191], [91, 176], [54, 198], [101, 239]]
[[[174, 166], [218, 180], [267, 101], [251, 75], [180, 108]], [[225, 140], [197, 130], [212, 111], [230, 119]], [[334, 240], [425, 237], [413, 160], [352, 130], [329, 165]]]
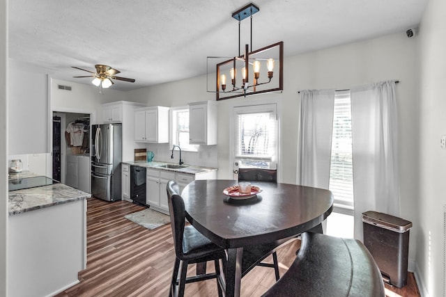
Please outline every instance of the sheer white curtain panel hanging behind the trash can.
[[352, 88], [355, 238], [362, 236], [362, 213], [399, 216], [397, 102], [394, 81]]

